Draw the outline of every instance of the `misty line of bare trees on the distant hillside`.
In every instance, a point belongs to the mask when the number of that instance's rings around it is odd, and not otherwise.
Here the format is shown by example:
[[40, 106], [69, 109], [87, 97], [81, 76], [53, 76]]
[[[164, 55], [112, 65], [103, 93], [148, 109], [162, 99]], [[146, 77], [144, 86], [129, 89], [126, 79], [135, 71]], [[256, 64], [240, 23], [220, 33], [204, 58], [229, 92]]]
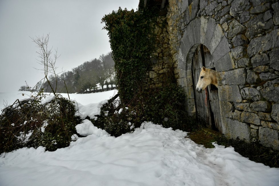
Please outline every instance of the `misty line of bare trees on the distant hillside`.
[[[98, 59], [86, 61], [72, 71], [61, 72], [57, 77], [52, 74], [48, 79], [52, 87], [60, 93], [88, 93], [112, 89], [116, 84], [112, 52], [102, 54]], [[19, 91], [41, 90], [52, 92], [48, 82], [43, 80], [39, 81], [34, 88], [28, 85], [19, 88]]]

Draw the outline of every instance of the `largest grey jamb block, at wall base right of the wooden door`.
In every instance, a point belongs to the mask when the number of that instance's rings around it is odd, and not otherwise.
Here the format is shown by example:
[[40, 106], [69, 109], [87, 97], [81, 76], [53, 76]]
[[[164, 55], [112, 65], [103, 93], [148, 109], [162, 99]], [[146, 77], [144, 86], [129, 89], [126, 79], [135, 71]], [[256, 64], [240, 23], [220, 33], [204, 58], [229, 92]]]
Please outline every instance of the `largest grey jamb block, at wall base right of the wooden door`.
[[240, 140], [250, 141], [250, 125], [231, 118], [221, 118], [225, 129], [224, 134], [227, 138], [239, 138]]

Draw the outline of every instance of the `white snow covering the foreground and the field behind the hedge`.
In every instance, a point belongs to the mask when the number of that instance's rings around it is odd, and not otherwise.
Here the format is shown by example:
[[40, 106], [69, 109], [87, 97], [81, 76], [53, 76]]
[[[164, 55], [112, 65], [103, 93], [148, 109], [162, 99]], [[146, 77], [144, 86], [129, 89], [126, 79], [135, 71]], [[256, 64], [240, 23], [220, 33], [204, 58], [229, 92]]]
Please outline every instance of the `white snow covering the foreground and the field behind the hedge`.
[[[71, 94], [81, 116], [98, 110], [114, 91]], [[14, 95], [14, 97], [13, 97]], [[0, 93], [14, 102], [20, 94]], [[12, 98], [13, 97], [13, 98]], [[11, 99], [11, 100], [10, 100]], [[10, 103], [11, 103], [10, 102]], [[83, 105], [83, 106], [82, 106]], [[91, 113], [92, 114], [92, 113]], [[93, 117], [93, 116], [92, 116]], [[278, 186], [279, 168], [255, 163], [233, 147], [207, 149], [180, 130], [143, 122], [117, 138], [89, 120], [77, 127], [88, 135], [54, 152], [22, 148], [0, 157], [1, 186]], [[186, 137], [186, 138], [185, 138]]]

